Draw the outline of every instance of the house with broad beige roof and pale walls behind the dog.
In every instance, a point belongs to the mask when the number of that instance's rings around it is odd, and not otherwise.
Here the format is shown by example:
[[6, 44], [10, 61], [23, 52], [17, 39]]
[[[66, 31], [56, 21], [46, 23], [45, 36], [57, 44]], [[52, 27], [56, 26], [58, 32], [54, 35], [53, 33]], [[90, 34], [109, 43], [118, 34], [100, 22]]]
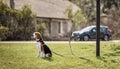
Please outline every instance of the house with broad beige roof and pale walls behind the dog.
[[[72, 22], [65, 15], [65, 10], [72, 6], [73, 12], [79, 8], [68, 0], [4, 0], [14, 9], [21, 9], [23, 5], [31, 5], [36, 13], [37, 24], [45, 23], [45, 36], [64, 37], [71, 31]], [[10, 4], [11, 3], [11, 4]], [[36, 29], [37, 31], [37, 29]]]

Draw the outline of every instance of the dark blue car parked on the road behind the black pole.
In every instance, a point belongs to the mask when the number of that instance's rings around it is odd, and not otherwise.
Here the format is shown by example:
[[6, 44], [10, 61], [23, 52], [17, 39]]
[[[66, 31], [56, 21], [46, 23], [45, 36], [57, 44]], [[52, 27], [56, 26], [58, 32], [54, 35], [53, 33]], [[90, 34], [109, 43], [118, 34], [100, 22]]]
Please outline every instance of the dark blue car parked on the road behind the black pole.
[[[100, 39], [109, 41], [112, 30], [108, 26], [100, 26]], [[96, 39], [96, 26], [88, 26], [80, 31], [72, 32], [73, 40], [89, 41], [90, 39]]]

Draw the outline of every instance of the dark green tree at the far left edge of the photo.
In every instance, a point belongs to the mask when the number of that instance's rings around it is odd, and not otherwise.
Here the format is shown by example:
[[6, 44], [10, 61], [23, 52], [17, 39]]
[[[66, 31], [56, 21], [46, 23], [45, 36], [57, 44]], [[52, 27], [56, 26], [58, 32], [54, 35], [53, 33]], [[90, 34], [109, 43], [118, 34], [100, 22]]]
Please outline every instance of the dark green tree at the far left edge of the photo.
[[11, 34], [11, 9], [0, 1], [0, 40], [6, 40]]

